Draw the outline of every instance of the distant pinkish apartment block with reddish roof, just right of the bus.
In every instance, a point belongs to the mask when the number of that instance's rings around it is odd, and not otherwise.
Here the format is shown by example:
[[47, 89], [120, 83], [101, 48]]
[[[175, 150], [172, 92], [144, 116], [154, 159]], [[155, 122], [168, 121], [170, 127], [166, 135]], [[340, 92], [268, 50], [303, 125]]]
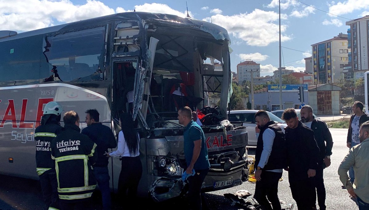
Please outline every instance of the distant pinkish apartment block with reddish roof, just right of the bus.
[[253, 77], [260, 77], [260, 63], [254, 61], [244, 61], [237, 64], [238, 82], [251, 81], [251, 74]]

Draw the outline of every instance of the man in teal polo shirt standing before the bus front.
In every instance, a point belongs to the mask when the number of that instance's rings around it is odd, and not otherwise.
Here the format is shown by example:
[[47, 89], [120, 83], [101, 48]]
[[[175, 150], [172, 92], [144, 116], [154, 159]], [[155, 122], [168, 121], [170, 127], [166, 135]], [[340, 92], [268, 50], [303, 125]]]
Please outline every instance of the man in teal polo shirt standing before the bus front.
[[192, 120], [190, 107], [185, 106], [178, 111], [178, 120], [179, 124], [185, 126], [183, 145], [186, 172], [192, 174], [192, 169], [195, 170], [195, 175], [188, 178], [190, 206], [193, 210], [201, 210], [201, 186], [210, 168], [204, 131]]

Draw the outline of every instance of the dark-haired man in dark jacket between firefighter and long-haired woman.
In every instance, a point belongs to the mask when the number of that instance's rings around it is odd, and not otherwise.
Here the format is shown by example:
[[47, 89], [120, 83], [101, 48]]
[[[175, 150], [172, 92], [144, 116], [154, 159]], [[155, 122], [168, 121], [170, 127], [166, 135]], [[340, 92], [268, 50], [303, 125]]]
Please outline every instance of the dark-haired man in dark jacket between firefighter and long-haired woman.
[[95, 151], [97, 153], [97, 161], [93, 165], [93, 173], [101, 191], [103, 208], [104, 210], [109, 210], [111, 209], [110, 176], [108, 170], [109, 158], [104, 153], [108, 151], [108, 148], [117, 147], [117, 141], [115, 141], [111, 128], [99, 122], [100, 114], [96, 109], [89, 109], [85, 113], [87, 128], [82, 130], [82, 134], [87, 135], [97, 144]]

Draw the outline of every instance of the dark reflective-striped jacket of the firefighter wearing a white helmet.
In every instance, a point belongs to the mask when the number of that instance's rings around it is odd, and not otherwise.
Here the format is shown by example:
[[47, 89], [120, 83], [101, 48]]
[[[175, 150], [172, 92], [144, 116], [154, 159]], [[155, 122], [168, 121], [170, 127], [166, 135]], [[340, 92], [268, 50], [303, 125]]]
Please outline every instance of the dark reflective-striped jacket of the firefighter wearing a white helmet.
[[45, 116], [48, 118], [45, 124], [38, 126], [35, 130], [36, 141], [36, 171], [40, 176], [45, 171], [55, 168], [55, 161], [51, 159], [51, 141], [62, 132], [63, 127], [56, 120], [56, 115]]

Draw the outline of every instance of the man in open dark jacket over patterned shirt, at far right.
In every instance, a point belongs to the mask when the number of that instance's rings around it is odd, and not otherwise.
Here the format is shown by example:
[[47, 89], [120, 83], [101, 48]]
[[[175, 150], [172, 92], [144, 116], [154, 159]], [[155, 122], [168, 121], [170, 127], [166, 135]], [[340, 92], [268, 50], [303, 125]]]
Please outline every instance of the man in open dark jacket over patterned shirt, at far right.
[[[352, 111], [354, 112], [351, 115], [350, 123], [348, 124], [348, 134], [347, 134], [347, 147], [352, 148], [358, 144], [360, 144], [359, 139], [359, 129], [361, 124], [365, 123], [369, 120], [369, 115], [363, 112], [364, 104], [360, 101], [355, 101], [352, 106]], [[354, 183], [355, 174], [354, 168], [350, 168], [348, 171], [351, 184]]]

